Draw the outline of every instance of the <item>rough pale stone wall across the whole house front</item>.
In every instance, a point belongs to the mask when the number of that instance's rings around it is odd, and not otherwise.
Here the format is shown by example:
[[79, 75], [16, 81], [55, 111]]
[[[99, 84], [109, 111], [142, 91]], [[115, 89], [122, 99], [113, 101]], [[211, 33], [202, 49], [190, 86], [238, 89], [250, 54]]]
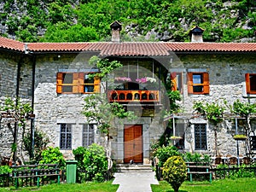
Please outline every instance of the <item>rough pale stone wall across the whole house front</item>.
[[[36, 74], [34, 90], [34, 113], [36, 114], [35, 127], [44, 131], [49, 137], [49, 145], [60, 146], [60, 124], [73, 125], [73, 148], [82, 145], [82, 125], [87, 121], [81, 113], [84, 97], [81, 94], [56, 93], [56, 73], [60, 70], [81, 70], [88, 67], [88, 61], [94, 54], [41, 54], [36, 55]], [[178, 59], [177, 59], [178, 58]], [[0, 89], [1, 96], [15, 96], [17, 63], [19, 55], [3, 53], [0, 56]], [[24, 57], [20, 70], [20, 97], [31, 100], [32, 91], [32, 58]], [[256, 102], [256, 96], [248, 98], [245, 94], [244, 73], [256, 73], [255, 56], [253, 55], [177, 55], [172, 62], [171, 70], [182, 69], [206, 69], [210, 78], [209, 95], [189, 95], [187, 92], [186, 75], [183, 74], [183, 105], [184, 113], [191, 113], [193, 102], [222, 102], [223, 99], [232, 104], [236, 99], [241, 102]], [[3, 101], [3, 98], [1, 97]], [[165, 131], [160, 113], [154, 118], [141, 117], [137, 122], [143, 124], [144, 162], [150, 160], [150, 144], [154, 143]], [[207, 122], [205, 122], [207, 123]], [[234, 124], [225, 122], [218, 128], [218, 150], [221, 154], [236, 154], [236, 142], [232, 139]], [[6, 130], [6, 128], [4, 128]], [[3, 129], [2, 145], [5, 154], [11, 143], [10, 137]], [[255, 129], [255, 126], [254, 128]], [[123, 125], [119, 124], [113, 130], [113, 151], [118, 160], [122, 160]], [[193, 125], [186, 129], [185, 149], [195, 152]], [[98, 133], [98, 131], [97, 131]], [[4, 139], [4, 141], [3, 141]], [[96, 143], [103, 143], [100, 134], [96, 134]], [[2, 150], [2, 148], [1, 148]], [[244, 146], [240, 144], [241, 154], [244, 154]], [[73, 158], [71, 150], [63, 150], [68, 159]], [[200, 151], [206, 154], [215, 153], [214, 133], [212, 125], [207, 125], [207, 150]]]

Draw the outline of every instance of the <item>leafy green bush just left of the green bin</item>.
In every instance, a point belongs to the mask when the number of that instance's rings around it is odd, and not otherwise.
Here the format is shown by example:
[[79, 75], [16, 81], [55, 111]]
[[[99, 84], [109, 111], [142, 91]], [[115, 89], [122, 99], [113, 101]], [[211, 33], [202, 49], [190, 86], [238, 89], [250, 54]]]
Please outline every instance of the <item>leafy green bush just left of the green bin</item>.
[[39, 164], [58, 164], [61, 169], [65, 169], [66, 162], [63, 154], [61, 154], [60, 148], [46, 148], [41, 156], [42, 160], [39, 161]]

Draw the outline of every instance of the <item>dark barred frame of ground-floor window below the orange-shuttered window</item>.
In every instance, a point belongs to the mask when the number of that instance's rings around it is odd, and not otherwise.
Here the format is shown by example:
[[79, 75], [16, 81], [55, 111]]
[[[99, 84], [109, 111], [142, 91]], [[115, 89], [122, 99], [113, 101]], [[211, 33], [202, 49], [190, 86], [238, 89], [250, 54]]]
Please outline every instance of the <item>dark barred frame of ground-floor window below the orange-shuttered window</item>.
[[[195, 131], [195, 126], [197, 125], [200, 125], [200, 131]], [[202, 127], [203, 126], [203, 127]], [[204, 129], [202, 131], [202, 129]], [[196, 134], [199, 133], [199, 143], [200, 143], [200, 147], [197, 146], [197, 142], [195, 142], [195, 150], [207, 150], [207, 124], [195, 124], [194, 125], [194, 137], [195, 137], [195, 140], [197, 139], [196, 137]], [[205, 140], [205, 143], [202, 143], [202, 133], [204, 134], [204, 140]], [[205, 144], [203, 147], [202, 145]]]

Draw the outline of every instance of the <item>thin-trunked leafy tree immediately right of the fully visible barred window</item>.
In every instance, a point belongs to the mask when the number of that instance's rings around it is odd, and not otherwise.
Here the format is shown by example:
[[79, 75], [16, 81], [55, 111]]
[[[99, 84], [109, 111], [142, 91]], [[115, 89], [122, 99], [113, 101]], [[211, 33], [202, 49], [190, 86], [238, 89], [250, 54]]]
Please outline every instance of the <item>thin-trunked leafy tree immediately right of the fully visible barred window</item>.
[[195, 102], [193, 108], [198, 113], [201, 113], [203, 116], [207, 118], [209, 122], [211, 122], [214, 127], [214, 138], [215, 138], [215, 151], [216, 155], [218, 155], [218, 141], [217, 141], [217, 130], [218, 125], [223, 122], [223, 114], [224, 114], [224, 106], [218, 104], [218, 102], [206, 103], [203, 102]]

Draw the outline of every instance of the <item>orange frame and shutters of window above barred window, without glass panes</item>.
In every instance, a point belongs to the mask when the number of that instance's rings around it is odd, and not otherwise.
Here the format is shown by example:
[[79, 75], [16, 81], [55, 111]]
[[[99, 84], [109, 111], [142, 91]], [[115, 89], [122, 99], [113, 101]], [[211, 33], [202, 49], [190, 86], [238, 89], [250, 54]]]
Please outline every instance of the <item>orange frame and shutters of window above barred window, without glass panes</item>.
[[[202, 84], [193, 83], [193, 75], [199, 74], [202, 76]], [[210, 93], [210, 83], [209, 83], [209, 73], [207, 72], [189, 72], [187, 74], [187, 83], [188, 83], [188, 93], [189, 94], [209, 94]], [[202, 91], [194, 91], [195, 86], [202, 86]]]

